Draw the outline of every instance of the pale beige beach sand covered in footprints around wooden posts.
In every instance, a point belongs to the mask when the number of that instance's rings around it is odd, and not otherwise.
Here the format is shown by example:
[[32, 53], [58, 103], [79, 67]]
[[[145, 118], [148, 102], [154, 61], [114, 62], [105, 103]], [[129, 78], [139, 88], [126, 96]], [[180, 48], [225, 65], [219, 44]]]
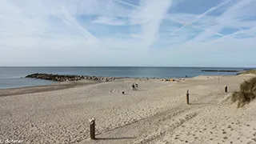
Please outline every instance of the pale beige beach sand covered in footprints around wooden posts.
[[[0, 97], [0, 142], [256, 143], [256, 102], [242, 109], [230, 103], [231, 92], [252, 77], [130, 78], [34, 94], [23, 88], [19, 95], [6, 90], [11, 96]], [[138, 91], [131, 90], [133, 82]], [[90, 118], [96, 119], [98, 140], [89, 139]]]

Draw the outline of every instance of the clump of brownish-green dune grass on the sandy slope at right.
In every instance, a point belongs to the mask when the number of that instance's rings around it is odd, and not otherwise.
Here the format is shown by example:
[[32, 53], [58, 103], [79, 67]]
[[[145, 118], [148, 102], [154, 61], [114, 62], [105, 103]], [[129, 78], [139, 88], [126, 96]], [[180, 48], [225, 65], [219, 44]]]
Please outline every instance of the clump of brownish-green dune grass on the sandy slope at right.
[[256, 77], [242, 82], [240, 90], [232, 94], [232, 102], [238, 102], [238, 108], [245, 106], [256, 98]]

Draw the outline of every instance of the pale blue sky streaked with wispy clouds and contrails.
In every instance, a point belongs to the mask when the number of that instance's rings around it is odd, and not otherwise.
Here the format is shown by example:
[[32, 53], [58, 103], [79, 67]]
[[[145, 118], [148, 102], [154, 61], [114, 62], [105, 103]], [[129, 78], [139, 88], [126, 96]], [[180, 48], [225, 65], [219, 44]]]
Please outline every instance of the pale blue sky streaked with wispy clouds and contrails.
[[256, 67], [256, 0], [1, 0], [0, 66]]

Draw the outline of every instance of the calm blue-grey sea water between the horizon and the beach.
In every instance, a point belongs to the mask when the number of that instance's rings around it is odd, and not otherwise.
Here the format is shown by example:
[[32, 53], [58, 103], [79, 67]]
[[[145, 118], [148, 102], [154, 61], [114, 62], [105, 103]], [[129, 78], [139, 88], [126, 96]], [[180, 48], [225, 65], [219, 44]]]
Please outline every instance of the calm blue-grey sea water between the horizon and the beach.
[[22, 78], [28, 74], [78, 74], [131, 78], [184, 78], [198, 75], [232, 75], [237, 73], [202, 72], [201, 70], [244, 70], [218, 67], [0, 67], [0, 89], [41, 86], [53, 83], [47, 80]]

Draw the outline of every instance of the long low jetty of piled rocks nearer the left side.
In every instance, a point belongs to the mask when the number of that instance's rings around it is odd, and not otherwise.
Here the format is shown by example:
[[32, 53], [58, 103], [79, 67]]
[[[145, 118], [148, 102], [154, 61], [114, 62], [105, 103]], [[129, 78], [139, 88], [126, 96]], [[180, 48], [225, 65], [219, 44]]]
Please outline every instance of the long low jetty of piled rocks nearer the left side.
[[37, 74], [26, 75], [25, 78], [45, 79], [45, 80], [58, 81], [58, 82], [79, 81], [82, 79], [110, 82], [110, 81], [114, 81], [115, 79], [122, 79], [122, 78], [128, 78], [128, 77], [117, 78], [117, 77], [102, 77], [102, 76], [88, 76], [88, 75], [61, 75], [61, 74], [37, 73]]

